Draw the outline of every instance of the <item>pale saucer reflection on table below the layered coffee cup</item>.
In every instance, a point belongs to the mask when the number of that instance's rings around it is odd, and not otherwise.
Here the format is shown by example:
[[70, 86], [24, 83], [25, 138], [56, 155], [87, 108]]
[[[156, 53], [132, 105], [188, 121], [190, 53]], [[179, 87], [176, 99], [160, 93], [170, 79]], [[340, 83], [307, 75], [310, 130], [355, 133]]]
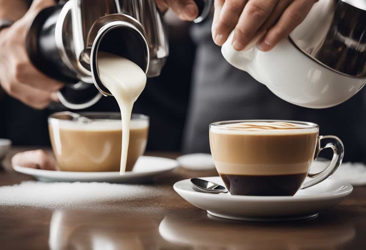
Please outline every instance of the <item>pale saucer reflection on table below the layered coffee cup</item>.
[[335, 249], [355, 237], [352, 223], [325, 223], [324, 220], [249, 222], [202, 213], [178, 212], [161, 221], [159, 232], [169, 242], [210, 250]]

